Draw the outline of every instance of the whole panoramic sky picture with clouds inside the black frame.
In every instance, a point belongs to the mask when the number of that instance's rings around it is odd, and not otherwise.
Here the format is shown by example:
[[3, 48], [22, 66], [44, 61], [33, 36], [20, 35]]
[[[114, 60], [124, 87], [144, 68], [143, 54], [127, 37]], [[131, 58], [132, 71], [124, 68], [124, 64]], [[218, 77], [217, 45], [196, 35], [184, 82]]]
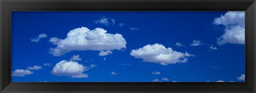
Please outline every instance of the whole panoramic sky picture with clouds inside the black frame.
[[244, 82], [244, 12], [12, 12], [12, 82]]

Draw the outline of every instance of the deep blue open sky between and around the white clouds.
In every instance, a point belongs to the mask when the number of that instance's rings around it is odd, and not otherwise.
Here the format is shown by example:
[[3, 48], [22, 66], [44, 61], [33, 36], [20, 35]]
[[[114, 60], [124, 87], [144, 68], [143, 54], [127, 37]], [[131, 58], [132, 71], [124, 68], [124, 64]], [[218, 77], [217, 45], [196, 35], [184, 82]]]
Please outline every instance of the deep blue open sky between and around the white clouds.
[[[215, 26], [212, 22], [221, 12], [12, 12], [12, 71], [26, 69], [28, 66], [42, 66], [26, 77], [12, 77], [12, 82], [150, 82], [154, 79], [169, 78], [180, 82], [215, 82], [217, 80], [235, 81], [245, 73], [245, 46], [225, 44], [219, 46], [217, 38], [223, 35], [224, 26]], [[95, 23], [100, 17], [113, 18], [114, 26]], [[125, 23], [123, 27], [118, 23]], [[99, 56], [99, 51], [73, 51], [63, 56], [49, 54], [51, 37], [66, 38], [67, 33], [75, 28], [103, 28], [107, 33], [120, 33], [127, 45], [123, 51], [114, 50], [108, 56]], [[131, 27], [139, 30], [130, 30]], [[30, 41], [40, 33], [48, 37], [38, 43]], [[201, 40], [200, 46], [190, 46], [193, 40]], [[185, 47], [176, 47], [181, 42]], [[189, 57], [188, 63], [161, 65], [142, 62], [142, 59], [130, 55], [132, 49], [148, 44], [163, 44], [178, 52], [196, 55]], [[209, 47], [216, 46], [217, 50]], [[85, 66], [97, 64], [85, 71], [89, 78], [70, 78], [51, 74], [53, 66], [69, 60], [79, 54]], [[106, 61], [103, 58], [106, 57]], [[85, 62], [87, 61], [87, 62]], [[52, 66], [43, 66], [51, 63]], [[131, 66], [122, 65], [131, 64]], [[214, 69], [212, 66], [219, 67]], [[117, 74], [111, 75], [114, 71]], [[151, 74], [159, 71], [161, 74]]]

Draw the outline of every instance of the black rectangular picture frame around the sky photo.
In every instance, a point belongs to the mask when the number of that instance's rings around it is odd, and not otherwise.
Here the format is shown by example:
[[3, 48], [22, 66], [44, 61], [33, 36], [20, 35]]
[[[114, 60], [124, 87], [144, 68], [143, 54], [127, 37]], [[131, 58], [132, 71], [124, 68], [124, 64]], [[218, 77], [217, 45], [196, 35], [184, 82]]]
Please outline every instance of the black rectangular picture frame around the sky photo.
[[[255, 0], [0, 0], [0, 92], [256, 92]], [[11, 82], [11, 11], [245, 11], [245, 82]]]

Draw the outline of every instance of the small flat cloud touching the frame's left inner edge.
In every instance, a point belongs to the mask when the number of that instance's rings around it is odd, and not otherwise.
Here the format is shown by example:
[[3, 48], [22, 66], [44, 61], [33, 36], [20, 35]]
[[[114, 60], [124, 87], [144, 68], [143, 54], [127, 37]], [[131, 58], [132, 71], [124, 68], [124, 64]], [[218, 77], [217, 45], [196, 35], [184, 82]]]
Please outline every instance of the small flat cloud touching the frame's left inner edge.
[[33, 74], [33, 71], [17, 69], [12, 71], [12, 77], [25, 77], [26, 75]]

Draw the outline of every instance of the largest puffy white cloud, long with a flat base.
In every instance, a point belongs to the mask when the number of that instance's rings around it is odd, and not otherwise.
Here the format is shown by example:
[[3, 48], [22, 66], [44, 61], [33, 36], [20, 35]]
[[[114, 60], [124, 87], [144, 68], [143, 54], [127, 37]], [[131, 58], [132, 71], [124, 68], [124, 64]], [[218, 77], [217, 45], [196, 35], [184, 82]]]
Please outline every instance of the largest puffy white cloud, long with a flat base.
[[68, 32], [65, 39], [56, 37], [49, 40], [55, 48], [50, 48], [50, 54], [61, 56], [74, 50], [121, 50], [126, 48], [126, 41], [121, 34], [110, 34], [102, 28], [90, 30], [85, 27]]

